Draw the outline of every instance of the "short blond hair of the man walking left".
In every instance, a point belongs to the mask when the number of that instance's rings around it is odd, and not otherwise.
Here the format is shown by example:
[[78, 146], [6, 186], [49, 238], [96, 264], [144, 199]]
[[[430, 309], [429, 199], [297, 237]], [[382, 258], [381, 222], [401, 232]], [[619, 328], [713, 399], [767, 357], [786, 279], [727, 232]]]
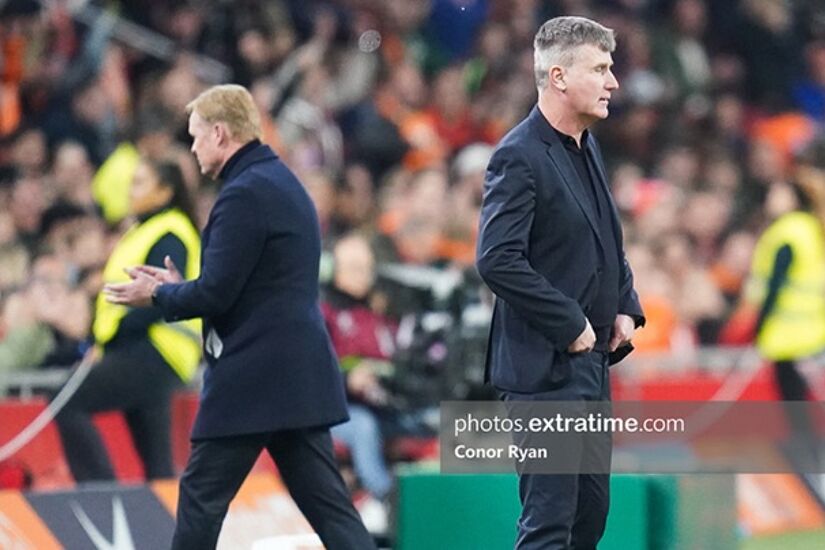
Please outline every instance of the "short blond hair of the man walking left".
[[238, 84], [221, 84], [202, 92], [186, 106], [209, 124], [223, 122], [237, 142], [261, 139], [261, 114], [249, 90]]

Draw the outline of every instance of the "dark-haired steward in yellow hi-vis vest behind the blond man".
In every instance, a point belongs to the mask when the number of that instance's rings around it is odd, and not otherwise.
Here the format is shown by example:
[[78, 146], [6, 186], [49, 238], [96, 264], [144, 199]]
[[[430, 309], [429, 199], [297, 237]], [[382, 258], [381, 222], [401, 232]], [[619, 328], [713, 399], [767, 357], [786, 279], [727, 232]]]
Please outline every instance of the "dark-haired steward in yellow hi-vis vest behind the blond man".
[[[130, 192], [136, 222], [121, 237], [103, 271], [105, 283], [129, 280], [125, 268], [163, 266], [169, 258], [188, 277], [200, 269], [200, 236], [177, 164], [143, 159]], [[92, 415], [120, 410], [147, 479], [173, 477], [170, 405], [201, 360], [200, 320], [166, 323], [157, 307], [95, 304], [96, 363], [57, 416], [75, 480], [113, 479], [114, 471]]]

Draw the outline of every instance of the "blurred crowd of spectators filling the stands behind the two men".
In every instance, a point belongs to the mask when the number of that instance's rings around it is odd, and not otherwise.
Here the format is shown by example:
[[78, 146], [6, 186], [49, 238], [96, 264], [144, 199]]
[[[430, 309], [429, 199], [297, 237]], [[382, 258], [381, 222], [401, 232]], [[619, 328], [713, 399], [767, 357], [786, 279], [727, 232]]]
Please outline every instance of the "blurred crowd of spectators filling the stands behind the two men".
[[184, 106], [218, 81], [252, 90], [329, 258], [367, 240], [374, 262], [349, 262], [370, 270], [356, 301], [401, 331], [415, 305], [392, 304], [375, 272], [472, 279], [491, 148], [535, 102], [533, 36], [561, 14], [617, 31], [621, 88], [594, 131], [648, 315], [637, 347], [725, 343], [756, 237], [792, 208], [793, 154], [825, 123], [821, 2], [9, 0], [0, 372], [84, 352], [137, 158], [174, 158], [205, 222], [216, 188], [187, 151]]

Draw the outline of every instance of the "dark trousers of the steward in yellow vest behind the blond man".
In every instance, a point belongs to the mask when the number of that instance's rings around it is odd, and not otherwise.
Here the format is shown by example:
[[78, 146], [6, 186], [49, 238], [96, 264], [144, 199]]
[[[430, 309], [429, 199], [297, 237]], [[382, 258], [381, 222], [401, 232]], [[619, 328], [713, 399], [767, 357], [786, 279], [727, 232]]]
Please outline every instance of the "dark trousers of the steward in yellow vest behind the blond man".
[[106, 447], [92, 422], [95, 413], [113, 410], [123, 411], [147, 479], [174, 477], [170, 405], [181, 386], [148, 340], [107, 350], [56, 418], [75, 480], [114, 479]]

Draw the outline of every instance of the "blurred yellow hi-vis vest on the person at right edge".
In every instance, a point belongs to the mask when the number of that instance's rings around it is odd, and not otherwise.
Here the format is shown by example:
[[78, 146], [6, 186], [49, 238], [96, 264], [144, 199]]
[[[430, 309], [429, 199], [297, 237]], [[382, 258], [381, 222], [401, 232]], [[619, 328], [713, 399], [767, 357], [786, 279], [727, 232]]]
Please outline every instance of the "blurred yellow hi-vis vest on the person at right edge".
[[759, 238], [753, 254], [746, 298], [763, 304], [780, 248], [793, 259], [776, 305], [756, 337], [759, 352], [772, 361], [793, 360], [825, 349], [825, 230], [813, 214], [791, 212]]

